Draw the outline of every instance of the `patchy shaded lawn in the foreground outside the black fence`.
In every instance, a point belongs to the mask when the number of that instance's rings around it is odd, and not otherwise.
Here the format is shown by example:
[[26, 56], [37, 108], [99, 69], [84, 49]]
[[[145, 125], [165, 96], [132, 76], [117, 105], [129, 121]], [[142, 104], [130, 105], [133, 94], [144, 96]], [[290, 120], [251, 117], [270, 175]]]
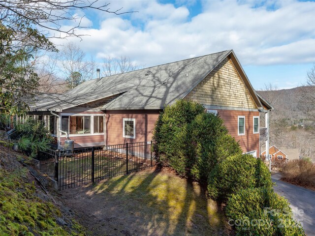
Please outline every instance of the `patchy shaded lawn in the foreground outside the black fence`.
[[147, 170], [61, 192], [92, 235], [230, 235], [223, 212], [199, 184]]

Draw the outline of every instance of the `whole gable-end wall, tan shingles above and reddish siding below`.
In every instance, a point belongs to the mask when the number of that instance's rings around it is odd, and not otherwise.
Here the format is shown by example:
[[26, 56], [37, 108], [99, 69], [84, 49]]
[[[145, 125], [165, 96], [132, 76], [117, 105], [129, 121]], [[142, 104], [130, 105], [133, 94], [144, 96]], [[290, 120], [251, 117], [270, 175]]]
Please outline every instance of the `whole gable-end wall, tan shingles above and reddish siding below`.
[[[239, 141], [243, 151], [256, 150], [259, 155], [259, 133], [253, 134], [253, 116], [259, 117], [259, 112], [229, 57], [192, 89], [186, 98], [197, 101], [206, 108], [212, 106], [211, 110], [218, 111], [224, 125], [235, 140]], [[221, 110], [224, 107], [231, 110]], [[244, 109], [251, 111], [238, 111]], [[238, 116], [245, 117], [245, 135], [238, 135]]]

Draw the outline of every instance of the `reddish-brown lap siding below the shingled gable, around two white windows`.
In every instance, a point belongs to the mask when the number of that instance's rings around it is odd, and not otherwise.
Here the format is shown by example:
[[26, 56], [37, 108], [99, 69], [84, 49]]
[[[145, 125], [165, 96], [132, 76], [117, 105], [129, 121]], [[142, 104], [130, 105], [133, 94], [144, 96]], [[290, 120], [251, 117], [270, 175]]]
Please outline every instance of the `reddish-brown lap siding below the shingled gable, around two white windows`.
[[[253, 133], [253, 117], [259, 116], [259, 112], [218, 110], [218, 114], [224, 120], [229, 134], [239, 141], [243, 151], [256, 150], [259, 156], [259, 133]], [[245, 135], [238, 135], [238, 116], [245, 117]]]

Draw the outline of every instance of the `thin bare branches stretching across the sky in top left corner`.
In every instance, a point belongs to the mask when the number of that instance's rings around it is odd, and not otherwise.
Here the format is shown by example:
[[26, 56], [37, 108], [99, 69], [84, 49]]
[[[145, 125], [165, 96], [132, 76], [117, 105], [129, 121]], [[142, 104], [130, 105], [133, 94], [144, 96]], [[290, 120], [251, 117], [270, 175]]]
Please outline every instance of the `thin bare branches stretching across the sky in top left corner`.
[[[125, 14], [121, 9], [112, 11], [110, 3], [98, 3], [98, 0], [1, 0], [0, 1], [0, 21], [4, 26], [9, 26], [12, 31], [19, 30], [19, 35], [15, 37], [17, 45], [31, 45], [32, 39], [40, 41], [50, 37], [82, 37], [75, 29], [82, 28], [83, 17], [73, 14], [77, 10], [99, 10], [116, 15]], [[19, 23], [27, 23], [21, 26]], [[68, 28], [64, 27], [67, 23]], [[36, 28], [34, 28], [36, 27]], [[48, 36], [48, 33], [53, 33]], [[46, 44], [46, 42], [45, 42]], [[45, 45], [42, 45], [45, 46]], [[54, 47], [51, 43], [46, 45], [46, 49]]]

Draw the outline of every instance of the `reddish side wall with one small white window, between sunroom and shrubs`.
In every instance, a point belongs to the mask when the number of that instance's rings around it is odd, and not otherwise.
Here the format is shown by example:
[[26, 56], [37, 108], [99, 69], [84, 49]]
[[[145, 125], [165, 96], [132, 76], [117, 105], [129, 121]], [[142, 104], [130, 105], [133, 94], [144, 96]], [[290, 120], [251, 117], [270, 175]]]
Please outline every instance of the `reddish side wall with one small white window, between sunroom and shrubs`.
[[[151, 141], [159, 112], [159, 110], [106, 111], [106, 145]], [[135, 119], [134, 139], [123, 137], [124, 118]]]

